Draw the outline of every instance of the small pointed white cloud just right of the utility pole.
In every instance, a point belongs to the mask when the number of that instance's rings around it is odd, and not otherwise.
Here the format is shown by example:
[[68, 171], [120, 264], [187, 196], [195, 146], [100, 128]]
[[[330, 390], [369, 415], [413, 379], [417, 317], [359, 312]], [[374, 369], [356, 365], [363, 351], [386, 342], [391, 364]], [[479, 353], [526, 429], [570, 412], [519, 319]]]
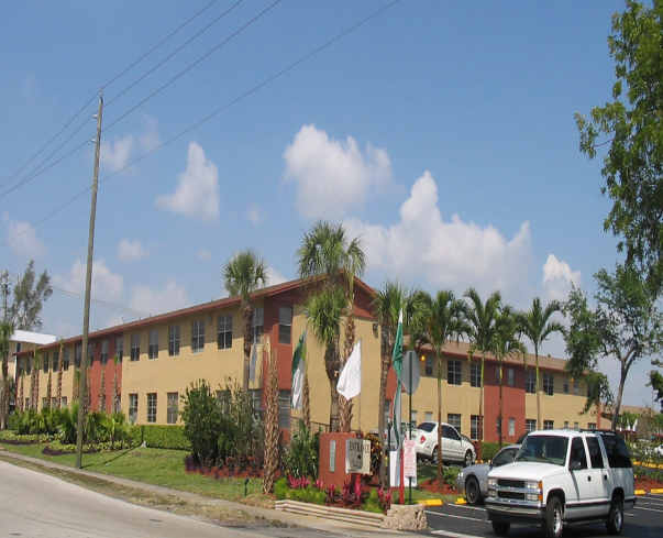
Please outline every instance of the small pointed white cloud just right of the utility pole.
[[187, 168], [179, 175], [175, 193], [158, 196], [156, 206], [203, 220], [219, 218], [219, 172], [196, 142], [189, 144]]

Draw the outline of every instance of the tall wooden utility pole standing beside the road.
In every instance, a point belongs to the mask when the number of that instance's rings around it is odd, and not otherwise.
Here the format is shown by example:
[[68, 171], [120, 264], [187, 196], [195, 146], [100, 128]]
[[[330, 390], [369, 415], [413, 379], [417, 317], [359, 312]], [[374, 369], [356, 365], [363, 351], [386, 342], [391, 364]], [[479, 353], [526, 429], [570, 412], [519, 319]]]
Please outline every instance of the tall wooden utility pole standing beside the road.
[[92, 285], [92, 253], [95, 251], [95, 219], [97, 217], [97, 186], [99, 184], [99, 151], [101, 145], [101, 113], [103, 96], [99, 95], [99, 111], [97, 112], [97, 138], [95, 140], [95, 173], [92, 176], [92, 200], [90, 204], [90, 230], [88, 233], [88, 263], [85, 276], [85, 304], [82, 311], [82, 358], [80, 363], [80, 380], [78, 391], [78, 430], [76, 432], [76, 466], [82, 468], [82, 428], [85, 424], [88, 384], [88, 330], [90, 328], [90, 287]]

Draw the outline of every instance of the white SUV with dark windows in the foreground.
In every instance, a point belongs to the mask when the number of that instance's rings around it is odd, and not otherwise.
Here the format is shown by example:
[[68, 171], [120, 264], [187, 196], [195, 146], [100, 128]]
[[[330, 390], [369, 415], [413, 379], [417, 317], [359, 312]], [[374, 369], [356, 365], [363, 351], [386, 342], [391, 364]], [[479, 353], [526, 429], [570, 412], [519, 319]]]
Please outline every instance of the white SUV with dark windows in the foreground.
[[634, 503], [629, 451], [610, 431], [531, 432], [513, 463], [488, 473], [486, 508], [497, 536], [511, 524], [539, 523], [559, 538], [566, 524], [592, 520], [618, 535], [625, 506]]

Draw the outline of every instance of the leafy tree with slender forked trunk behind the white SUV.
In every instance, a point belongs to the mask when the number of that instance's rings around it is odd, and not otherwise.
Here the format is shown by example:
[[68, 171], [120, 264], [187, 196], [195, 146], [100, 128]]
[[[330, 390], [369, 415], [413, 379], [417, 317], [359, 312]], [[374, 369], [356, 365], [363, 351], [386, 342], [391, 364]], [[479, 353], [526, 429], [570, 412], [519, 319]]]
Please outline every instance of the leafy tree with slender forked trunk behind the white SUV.
[[617, 265], [614, 274], [600, 270], [594, 277], [598, 287], [594, 310], [576, 287], [564, 305], [564, 312], [571, 318], [565, 337], [567, 366], [578, 375], [596, 370], [600, 359], [614, 358], [619, 362], [619, 387], [612, 414], [615, 429], [629, 371], [643, 356], [656, 355], [660, 351], [663, 319], [647, 283], [633, 266]]

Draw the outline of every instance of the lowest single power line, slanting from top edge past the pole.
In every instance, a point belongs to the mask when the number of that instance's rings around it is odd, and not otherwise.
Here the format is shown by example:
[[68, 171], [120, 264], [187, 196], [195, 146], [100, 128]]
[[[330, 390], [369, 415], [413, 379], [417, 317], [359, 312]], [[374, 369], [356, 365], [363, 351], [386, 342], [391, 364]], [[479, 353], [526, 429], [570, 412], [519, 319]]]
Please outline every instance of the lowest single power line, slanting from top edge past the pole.
[[[174, 136], [172, 136], [168, 140], [162, 142], [161, 144], [157, 144], [156, 146], [154, 146], [153, 149], [151, 149], [147, 152], [143, 153], [142, 155], [139, 155], [137, 157], [131, 160], [122, 168], [119, 168], [115, 172], [112, 172], [112, 173], [110, 173], [108, 175], [102, 176], [100, 180], [109, 179], [109, 178], [111, 178], [111, 177], [120, 174], [121, 172], [128, 169], [129, 167], [133, 166], [134, 164], [136, 164], [136, 163], [139, 163], [141, 161], [144, 161], [145, 158], [147, 158], [153, 153], [155, 153], [155, 152], [157, 152], [157, 151], [166, 147], [167, 145], [169, 145], [173, 142], [175, 142], [175, 141], [179, 140], [180, 138], [183, 138], [185, 134], [187, 134], [187, 133], [189, 133], [189, 132], [198, 129], [200, 125], [202, 125], [202, 124], [207, 123], [208, 121], [212, 120], [214, 117], [219, 116], [221, 112], [224, 112], [225, 110], [232, 108], [233, 106], [235, 106], [236, 103], [243, 101], [247, 97], [250, 97], [250, 96], [252, 96], [254, 94], [257, 94], [265, 86], [268, 86], [269, 84], [274, 83], [275, 80], [281, 78], [283, 76], [287, 75], [288, 73], [290, 73], [291, 70], [294, 70], [295, 68], [297, 68], [299, 65], [303, 64], [305, 62], [308, 62], [309, 59], [311, 59], [313, 57], [316, 57], [317, 55], [319, 55], [320, 53], [322, 53], [323, 51], [325, 51], [327, 48], [329, 48], [330, 46], [332, 46], [334, 43], [341, 41], [343, 37], [350, 35], [350, 34], [354, 33], [360, 28], [362, 28], [363, 25], [367, 24], [373, 19], [379, 17], [384, 12], [388, 11], [389, 9], [391, 9], [393, 7], [395, 7], [399, 2], [400, 2], [400, 0], [391, 0], [390, 2], [384, 4], [383, 7], [378, 8], [375, 11], [373, 11], [371, 14], [364, 17], [363, 19], [361, 19], [360, 21], [355, 22], [351, 26], [347, 26], [346, 29], [342, 30], [341, 32], [339, 32], [338, 34], [335, 34], [334, 36], [332, 36], [331, 39], [329, 39], [328, 41], [325, 41], [321, 45], [318, 45], [317, 47], [312, 48], [308, 53], [306, 53], [302, 56], [300, 56], [299, 58], [297, 58], [296, 61], [294, 61], [290, 64], [286, 65], [283, 69], [280, 69], [280, 70], [278, 70], [278, 72], [269, 75], [268, 77], [264, 78], [261, 83], [256, 84], [255, 86], [253, 86], [252, 88], [247, 89], [246, 91], [240, 94], [234, 99], [228, 101], [225, 105], [223, 105], [223, 106], [221, 106], [221, 107], [212, 110], [212, 112], [210, 112], [209, 114], [200, 118], [195, 123], [191, 123], [189, 127], [187, 127], [183, 131], [178, 132]], [[43, 219], [38, 220], [34, 224], [34, 228], [38, 228], [40, 226], [42, 226], [47, 220], [52, 219], [53, 217], [55, 217], [59, 212], [64, 211], [67, 207], [69, 207], [71, 204], [74, 204], [78, 198], [82, 197], [86, 193], [88, 193], [90, 190], [90, 188], [91, 187], [89, 187], [89, 186], [85, 187], [82, 190], [76, 193], [67, 201], [65, 201], [64, 204], [55, 207], [55, 209], [53, 211], [51, 211]], [[26, 233], [26, 232], [27, 232], [27, 230], [25, 230], [25, 231], [23, 231], [21, 233], [18, 233], [16, 235], [21, 235], [21, 234]]]

